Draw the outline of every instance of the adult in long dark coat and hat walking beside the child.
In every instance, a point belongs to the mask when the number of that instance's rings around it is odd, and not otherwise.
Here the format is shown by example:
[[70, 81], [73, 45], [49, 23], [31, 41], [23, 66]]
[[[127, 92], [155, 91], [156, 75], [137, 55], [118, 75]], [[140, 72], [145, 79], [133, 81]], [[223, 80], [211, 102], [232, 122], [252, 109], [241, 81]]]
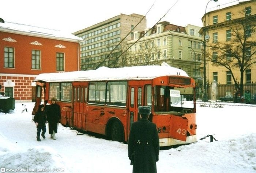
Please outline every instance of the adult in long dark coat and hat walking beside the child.
[[52, 104], [46, 107], [47, 121], [49, 124], [49, 134], [52, 139], [56, 139], [55, 134], [57, 133], [58, 123], [61, 119], [60, 105], [56, 104], [56, 97], [52, 98]]

